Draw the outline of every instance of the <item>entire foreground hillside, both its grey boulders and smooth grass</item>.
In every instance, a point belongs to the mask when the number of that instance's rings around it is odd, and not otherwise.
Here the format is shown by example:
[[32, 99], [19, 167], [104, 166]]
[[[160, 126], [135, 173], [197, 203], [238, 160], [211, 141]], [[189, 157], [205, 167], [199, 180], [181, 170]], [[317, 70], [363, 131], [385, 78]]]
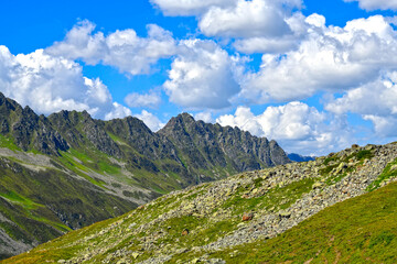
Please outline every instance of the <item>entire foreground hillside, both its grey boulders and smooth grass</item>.
[[4, 263], [396, 263], [397, 144], [173, 191]]

